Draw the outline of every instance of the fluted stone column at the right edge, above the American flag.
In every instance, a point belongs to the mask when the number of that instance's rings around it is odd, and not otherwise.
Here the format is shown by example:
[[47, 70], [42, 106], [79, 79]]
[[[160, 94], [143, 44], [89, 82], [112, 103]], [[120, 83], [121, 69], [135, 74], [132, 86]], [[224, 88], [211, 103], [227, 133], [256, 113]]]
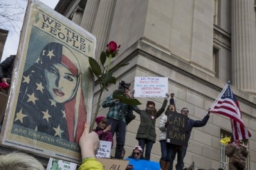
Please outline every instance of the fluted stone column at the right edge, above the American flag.
[[254, 0], [232, 0], [232, 84], [256, 95]]

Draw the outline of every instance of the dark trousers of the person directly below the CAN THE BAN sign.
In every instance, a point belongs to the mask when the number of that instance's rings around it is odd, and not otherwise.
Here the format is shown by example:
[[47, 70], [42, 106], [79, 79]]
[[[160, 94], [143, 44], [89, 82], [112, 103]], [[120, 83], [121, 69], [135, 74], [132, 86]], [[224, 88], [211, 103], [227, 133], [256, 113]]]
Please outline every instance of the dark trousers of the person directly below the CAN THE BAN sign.
[[170, 161], [170, 169], [169, 170], [172, 170], [176, 154], [177, 154], [177, 164], [175, 165], [176, 170], [183, 170], [183, 167], [184, 167], [183, 159], [185, 157], [185, 153], [186, 153], [188, 147], [179, 148], [179, 147], [176, 147], [176, 145], [174, 145], [174, 144], [172, 144], [172, 146], [173, 146], [173, 153], [172, 153], [172, 158]]

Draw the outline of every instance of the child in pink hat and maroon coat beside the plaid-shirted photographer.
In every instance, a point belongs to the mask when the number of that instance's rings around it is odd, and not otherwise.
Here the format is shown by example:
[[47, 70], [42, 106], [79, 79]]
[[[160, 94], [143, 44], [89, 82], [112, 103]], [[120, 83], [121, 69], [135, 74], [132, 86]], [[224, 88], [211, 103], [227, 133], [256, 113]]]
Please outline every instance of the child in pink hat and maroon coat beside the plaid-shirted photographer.
[[96, 129], [93, 129], [95, 133], [98, 134], [100, 140], [111, 142], [111, 147], [113, 147], [113, 135], [110, 132], [111, 124], [106, 127], [107, 119], [104, 116], [96, 117], [95, 122], [97, 123]]

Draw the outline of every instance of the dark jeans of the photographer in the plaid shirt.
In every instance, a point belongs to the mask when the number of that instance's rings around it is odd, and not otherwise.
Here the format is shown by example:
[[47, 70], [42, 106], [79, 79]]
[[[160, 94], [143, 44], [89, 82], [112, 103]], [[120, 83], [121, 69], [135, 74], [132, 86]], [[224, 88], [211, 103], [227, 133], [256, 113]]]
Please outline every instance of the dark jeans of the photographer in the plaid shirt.
[[126, 123], [120, 120], [114, 120], [111, 117], [107, 117], [107, 126], [111, 124], [111, 133], [114, 135], [116, 133], [116, 159], [122, 159], [122, 150], [125, 145], [125, 132], [126, 132]]

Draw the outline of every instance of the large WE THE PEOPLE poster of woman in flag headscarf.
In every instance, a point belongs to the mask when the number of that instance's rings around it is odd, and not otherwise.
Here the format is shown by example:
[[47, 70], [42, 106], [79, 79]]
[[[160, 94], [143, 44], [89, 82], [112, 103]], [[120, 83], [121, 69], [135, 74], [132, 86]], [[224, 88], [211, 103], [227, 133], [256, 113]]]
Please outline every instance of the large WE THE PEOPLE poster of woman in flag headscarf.
[[80, 163], [78, 141], [91, 120], [89, 32], [37, 0], [28, 1], [1, 144]]

